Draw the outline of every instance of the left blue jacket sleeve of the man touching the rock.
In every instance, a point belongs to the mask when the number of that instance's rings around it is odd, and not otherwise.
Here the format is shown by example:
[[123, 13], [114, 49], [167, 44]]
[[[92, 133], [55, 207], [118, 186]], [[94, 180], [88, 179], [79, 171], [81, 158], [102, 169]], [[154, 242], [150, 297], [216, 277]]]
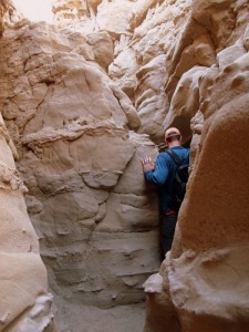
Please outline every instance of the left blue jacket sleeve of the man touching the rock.
[[155, 170], [145, 172], [145, 178], [148, 183], [156, 186], [163, 186], [168, 177], [170, 160], [164, 154], [159, 154], [156, 159]]

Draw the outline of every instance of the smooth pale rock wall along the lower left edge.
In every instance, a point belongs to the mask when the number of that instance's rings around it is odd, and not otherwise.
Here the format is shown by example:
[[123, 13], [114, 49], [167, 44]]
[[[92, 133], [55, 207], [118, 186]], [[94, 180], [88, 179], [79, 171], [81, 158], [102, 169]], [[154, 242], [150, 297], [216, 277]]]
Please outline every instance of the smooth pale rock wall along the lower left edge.
[[[0, 117], [0, 331], [53, 331], [52, 295], [15, 169], [14, 145]], [[35, 314], [37, 312], [37, 314]]]

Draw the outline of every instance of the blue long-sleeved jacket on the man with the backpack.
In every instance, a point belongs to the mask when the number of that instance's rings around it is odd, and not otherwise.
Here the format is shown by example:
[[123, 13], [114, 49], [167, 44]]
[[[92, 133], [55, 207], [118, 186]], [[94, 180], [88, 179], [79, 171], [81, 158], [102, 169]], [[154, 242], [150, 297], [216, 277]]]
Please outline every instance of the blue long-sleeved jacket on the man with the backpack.
[[[181, 160], [189, 163], [189, 149], [181, 146], [174, 146], [173, 149]], [[148, 183], [158, 186], [160, 212], [169, 212], [173, 210], [172, 205], [172, 185], [176, 172], [176, 164], [172, 157], [162, 152], [156, 159], [154, 170], [145, 172], [145, 178]]]

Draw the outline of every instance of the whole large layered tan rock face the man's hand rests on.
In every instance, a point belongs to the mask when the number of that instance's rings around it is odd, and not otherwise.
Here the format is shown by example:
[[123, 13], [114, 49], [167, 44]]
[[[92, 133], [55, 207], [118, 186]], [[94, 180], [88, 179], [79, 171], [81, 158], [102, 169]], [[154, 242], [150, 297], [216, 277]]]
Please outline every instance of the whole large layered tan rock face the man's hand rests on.
[[157, 195], [141, 172], [156, 148], [132, 131], [141, 125], [132, 102], [102, 58], [93, 61], [103, 38], [24, 22], [0, 40], [0, 107], [65, 331], [85, 305], [143, 303], [142, 286], [159, 267]]

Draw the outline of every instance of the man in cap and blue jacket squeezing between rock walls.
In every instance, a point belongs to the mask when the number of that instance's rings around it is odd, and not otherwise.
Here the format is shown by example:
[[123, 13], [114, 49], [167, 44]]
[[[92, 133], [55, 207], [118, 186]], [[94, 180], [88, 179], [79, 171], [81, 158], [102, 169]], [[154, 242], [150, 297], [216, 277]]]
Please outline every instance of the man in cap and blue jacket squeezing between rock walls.
[[181, 134], [178, 128], [170, 127], [165, 132], [166, 151], [160, 152], [156, 163], [151, 157], [142, 159], [145, 179], [158, 187], [160, 210], [160, 247], [163, 259], [172, 249], [175, 227], [177, 222], [178, 207], [174, 203], [174, 177], [177, 164], [172, 157], [177, 155], [180, 164], [189, 164], [189, 149], [181, 146]]

